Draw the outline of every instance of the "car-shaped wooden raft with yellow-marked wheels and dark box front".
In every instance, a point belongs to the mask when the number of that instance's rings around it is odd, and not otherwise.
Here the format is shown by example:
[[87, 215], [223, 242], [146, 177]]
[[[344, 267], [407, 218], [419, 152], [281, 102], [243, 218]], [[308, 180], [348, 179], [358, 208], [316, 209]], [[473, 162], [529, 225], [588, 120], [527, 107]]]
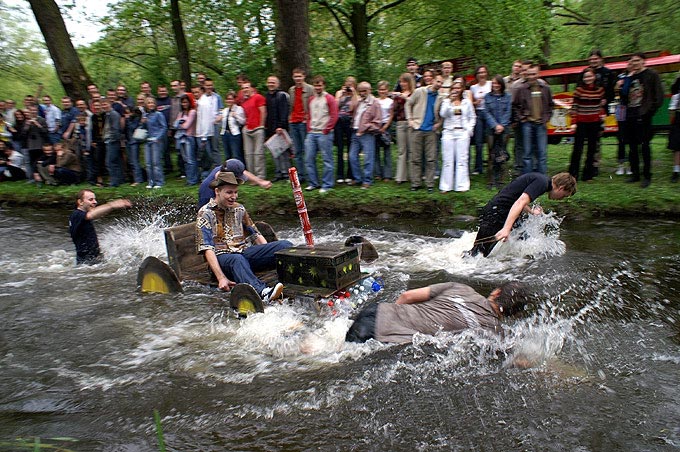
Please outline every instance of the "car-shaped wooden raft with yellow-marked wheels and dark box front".
[[[267, 242], [278, 240], [271, 226], [256, 223]], [[196, 253], [196, 223], [164, 230], [169, 265], [156, 257], [147, 257], [137, 273], [142, 292], [182, 292], [182, 282], [217, 286], [203, 254]], [[342, 294], [358, 281], [370, 276], [361, 272], [360, 262], [378, 258], [375, 247], [366, 239], [352, 236], [344, 245], [301, 246], [276, 253], [276, 268], [257, 276], [267, 285], [284, 284], [283, 296], [308, 303], [317, 310], [320, 301]], [[246, 287], [243, 287], [246, 286]], [[230, 304], [237, 312], [262, 312], [259, 294], [247, 284], [238, 284], [230, 292]]]

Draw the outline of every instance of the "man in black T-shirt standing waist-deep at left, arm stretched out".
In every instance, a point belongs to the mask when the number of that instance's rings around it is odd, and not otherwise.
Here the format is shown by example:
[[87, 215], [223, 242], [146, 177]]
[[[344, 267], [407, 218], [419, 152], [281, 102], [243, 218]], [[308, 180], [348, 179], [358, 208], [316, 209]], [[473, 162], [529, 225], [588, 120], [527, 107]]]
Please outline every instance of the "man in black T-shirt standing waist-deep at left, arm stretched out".
[[76, 209], [68, 219], [71, 239], [76, 245], [77, 264], [96, 264], [101, 260], [97, 232], [92, 220], [101, 218], [116, 209], [132, 207], [127, 199], [116, 199], [102, 206], [97, 206], [97, 198], [91, 190], [80, 190], [76, 200]]

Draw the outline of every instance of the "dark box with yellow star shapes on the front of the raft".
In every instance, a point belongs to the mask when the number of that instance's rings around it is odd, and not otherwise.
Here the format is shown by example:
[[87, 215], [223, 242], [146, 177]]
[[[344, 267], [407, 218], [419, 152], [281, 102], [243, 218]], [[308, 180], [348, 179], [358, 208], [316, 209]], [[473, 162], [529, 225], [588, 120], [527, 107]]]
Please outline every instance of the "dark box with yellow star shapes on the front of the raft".
[[356, 247], [306, 246], [276, 253], [279, 281], [296, 286], [342, 289], [361, 278]]

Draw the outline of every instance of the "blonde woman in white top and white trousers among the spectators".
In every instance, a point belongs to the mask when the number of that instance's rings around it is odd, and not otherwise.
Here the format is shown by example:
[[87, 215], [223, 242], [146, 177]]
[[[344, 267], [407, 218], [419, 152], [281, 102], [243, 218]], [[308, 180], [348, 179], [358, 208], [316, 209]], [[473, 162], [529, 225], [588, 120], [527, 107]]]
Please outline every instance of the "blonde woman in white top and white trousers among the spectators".
[[477, 117], [472, 102], [463, 98], [463, 89], [461, 82], [453, 82], [451, 94], [444, 99], [439, 110], [439, 115], [444, 121], [442, 169], [439, 177], [441, 193], [470, 189], [468, 168], [470, 137], [474, 133]]

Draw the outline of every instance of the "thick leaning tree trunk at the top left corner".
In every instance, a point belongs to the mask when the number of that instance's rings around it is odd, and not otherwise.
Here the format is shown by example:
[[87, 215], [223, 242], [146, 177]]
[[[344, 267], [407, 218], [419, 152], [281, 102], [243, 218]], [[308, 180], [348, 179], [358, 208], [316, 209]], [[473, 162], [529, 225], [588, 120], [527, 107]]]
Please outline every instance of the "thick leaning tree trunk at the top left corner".
[[28, 0], [28, 2], [45, 38], [47, 50], [50, 52], [64, 91], [74, 100], [87, 99], [87, 85], [92, 81], [73, 47], [59, 7], [54, 0]]

